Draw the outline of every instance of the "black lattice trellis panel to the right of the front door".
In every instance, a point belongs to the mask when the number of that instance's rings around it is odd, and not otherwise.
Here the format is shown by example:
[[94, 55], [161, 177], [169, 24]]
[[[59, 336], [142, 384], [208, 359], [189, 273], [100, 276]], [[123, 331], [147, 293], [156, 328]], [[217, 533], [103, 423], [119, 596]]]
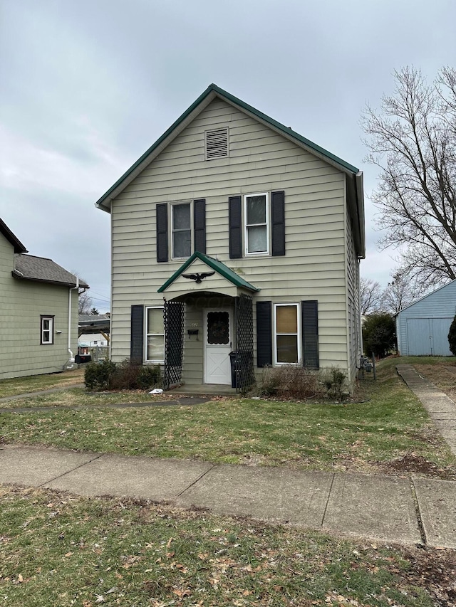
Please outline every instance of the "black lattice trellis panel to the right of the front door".
[[236, 391], [244, 392], [254, 384], [254, 313], [249, 295], [236, 298], [236, 345], [234, 372]]

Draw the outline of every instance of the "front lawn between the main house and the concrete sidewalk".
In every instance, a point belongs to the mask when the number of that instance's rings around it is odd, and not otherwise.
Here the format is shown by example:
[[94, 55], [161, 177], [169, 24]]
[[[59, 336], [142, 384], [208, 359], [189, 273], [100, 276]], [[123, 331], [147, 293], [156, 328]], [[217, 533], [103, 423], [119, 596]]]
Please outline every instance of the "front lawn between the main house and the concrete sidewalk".
[[[41, 410], [0, 413], [0, 436], [125, 455], [456, 478], [454, 456], [393, 363], [380, 364], [378, 381], [369, 378], [363, 386], [363, 401], [345, 404], [215, 398], [195, 406], [142, 408], [105, 405], [162, 396], [73, 389], [14, 401]], [[70, 403], [87, 408], [48, 408]]]

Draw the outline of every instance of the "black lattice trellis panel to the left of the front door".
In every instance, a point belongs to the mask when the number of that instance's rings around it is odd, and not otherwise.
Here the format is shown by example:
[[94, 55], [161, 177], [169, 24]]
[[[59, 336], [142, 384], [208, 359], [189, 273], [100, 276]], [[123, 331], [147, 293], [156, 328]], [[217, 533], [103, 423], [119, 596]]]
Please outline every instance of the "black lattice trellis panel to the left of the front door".
[[165, 366], [163, 387], [169, 390], [182, 381], [182, 362], [184, 360], [184, 314], [185, 304], [167, 302], [163, 307], [165, 325]]

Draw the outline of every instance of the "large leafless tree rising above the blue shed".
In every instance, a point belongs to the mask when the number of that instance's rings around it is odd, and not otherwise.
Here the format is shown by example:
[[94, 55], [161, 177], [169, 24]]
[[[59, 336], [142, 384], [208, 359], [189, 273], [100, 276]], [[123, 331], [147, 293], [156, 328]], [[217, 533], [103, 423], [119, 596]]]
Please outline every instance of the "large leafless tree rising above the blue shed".
[[456, 278], [456, 70], [429, 86], [403, 68], [395, 82], [380, 111], [363, 114], [367, 159], [380, 167], [372, 198], [380, 246], [399, 246], [400, 273], [427, 290]]

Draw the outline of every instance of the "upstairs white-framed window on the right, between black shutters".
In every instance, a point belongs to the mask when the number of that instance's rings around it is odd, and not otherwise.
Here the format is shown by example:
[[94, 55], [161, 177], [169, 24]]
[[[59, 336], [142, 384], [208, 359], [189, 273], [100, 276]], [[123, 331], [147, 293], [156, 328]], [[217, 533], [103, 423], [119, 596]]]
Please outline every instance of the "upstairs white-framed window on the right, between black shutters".
[[269, 254], [269, 196], [244, 196], [245, 255]]

